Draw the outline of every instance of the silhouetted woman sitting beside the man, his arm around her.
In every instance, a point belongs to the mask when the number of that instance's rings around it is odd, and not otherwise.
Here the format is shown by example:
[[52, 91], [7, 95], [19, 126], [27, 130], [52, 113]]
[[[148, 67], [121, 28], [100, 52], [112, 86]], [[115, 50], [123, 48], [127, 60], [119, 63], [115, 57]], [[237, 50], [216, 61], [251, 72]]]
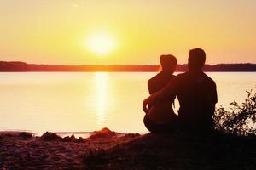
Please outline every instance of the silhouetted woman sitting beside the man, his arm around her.
[[[177, 66], [177, 59], [173, 55], [161, 55], [160, 65], [161, 71], [148, 80], [149, 94], [154, 94], [164, 88], [175, 77], [173, 72]], [[148, 105], [148, 111], [143, 122], [150, 132], [167, 130], [169, 122], [177, 117], [172, 109], [174, 99], [175, 95], [168, 95], [153, 105]]]

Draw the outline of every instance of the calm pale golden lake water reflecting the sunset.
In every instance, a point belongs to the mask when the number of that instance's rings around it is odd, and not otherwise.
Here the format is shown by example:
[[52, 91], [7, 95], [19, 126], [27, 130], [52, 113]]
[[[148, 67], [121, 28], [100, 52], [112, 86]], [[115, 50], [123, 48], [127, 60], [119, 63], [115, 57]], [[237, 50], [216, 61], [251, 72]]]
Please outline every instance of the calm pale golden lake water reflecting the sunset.
[[[88, 132], [109, 127], [147, 133], [142, 102], [153, 72], [0, 73], [0, 130]], [[218, 105], [242, 102], [255, 72], [207, 73], [218, 86]]]

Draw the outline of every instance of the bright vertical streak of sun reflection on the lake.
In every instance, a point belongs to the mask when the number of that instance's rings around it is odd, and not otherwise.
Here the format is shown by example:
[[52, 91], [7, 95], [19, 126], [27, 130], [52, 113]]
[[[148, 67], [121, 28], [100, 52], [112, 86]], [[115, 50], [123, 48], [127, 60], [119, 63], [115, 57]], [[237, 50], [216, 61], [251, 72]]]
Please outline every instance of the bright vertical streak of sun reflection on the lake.
[[97, 124], [99, 128], [105, 126], [106, 109], [108, 103], [108, 72], [95, 73], [95, 90], [96, 90], [96, 114]]

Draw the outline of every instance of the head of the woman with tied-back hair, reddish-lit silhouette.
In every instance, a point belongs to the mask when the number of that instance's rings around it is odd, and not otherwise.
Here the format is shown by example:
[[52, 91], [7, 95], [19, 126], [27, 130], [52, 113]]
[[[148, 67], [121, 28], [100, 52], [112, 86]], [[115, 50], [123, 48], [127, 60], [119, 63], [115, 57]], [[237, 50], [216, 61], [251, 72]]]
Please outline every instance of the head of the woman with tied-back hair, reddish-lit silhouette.
[[161, 55], [160, 64], [162, 71], [171, 71], [173, 73], [177, 65], [177, 59], [171, 54]]

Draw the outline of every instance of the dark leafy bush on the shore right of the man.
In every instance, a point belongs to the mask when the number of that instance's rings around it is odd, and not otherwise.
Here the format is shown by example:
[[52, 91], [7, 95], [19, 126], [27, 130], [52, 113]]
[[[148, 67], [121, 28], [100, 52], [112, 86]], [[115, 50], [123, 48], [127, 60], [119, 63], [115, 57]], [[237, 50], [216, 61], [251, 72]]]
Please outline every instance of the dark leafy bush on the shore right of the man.
[[235, 135], [256, 135], [256, 92], [247, 91], [247, 99], [241, 105], [230, 103], [227, 111], [222, 105], [213, 116], [218, 131]]

